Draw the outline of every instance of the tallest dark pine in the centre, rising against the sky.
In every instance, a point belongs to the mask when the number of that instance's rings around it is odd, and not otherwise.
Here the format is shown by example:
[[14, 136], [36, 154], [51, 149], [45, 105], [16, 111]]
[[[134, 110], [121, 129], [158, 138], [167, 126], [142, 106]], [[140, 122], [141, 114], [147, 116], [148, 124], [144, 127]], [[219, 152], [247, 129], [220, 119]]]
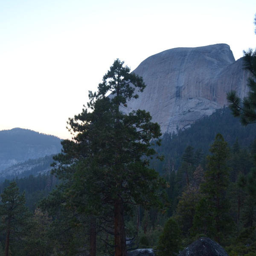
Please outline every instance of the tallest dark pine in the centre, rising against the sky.
[[128, 100], [138, 97], [135, 89], [143, 91], [145, 84], [123, 64], [114, 61], [98, 92], [89, 92], [87, 108], [69, 119], [74, 137], [62, 142], [63, 153], [55, 157], [60, 165], [53, 171], [70, 185], [64, 189], [71, 196], [70, 206], [108, 222], [113, 212], [109, 232], [114, 234], [116, 256], [127, 254], [124, 216], [130, 205], [160, 205], [156, 192], [163, 182], [148, 166], [148, 157], [156, 154], [150, 141], [160, 137], [160, 126], [146, 111], [124, 112]]

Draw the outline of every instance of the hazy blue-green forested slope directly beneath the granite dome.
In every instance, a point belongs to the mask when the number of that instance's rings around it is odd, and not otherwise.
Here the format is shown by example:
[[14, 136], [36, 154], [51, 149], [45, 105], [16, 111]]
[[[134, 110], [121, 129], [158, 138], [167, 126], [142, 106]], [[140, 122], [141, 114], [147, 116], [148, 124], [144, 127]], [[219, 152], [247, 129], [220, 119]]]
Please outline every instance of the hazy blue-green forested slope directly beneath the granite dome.
[[181, 164], [181, 156], [187, 146], [191, 145], [206, 155], [218, 133], [222, 134], [230, 146], [238, 140], [242, 148], [249, 149], [256, 140], [254, 125], [241, 125], [239, 119], [232, 116], [229, 108], [222, 108], [211, 116], [196, 121], [186, 130], [180, 130], [177, 134], [164, 134], [161, 146], [154, 147], [158, 154], [164, 155], [164, 160], [162, 162], [153, 160], [151, 166], [160, 174], [169, 165], [177, 171]]

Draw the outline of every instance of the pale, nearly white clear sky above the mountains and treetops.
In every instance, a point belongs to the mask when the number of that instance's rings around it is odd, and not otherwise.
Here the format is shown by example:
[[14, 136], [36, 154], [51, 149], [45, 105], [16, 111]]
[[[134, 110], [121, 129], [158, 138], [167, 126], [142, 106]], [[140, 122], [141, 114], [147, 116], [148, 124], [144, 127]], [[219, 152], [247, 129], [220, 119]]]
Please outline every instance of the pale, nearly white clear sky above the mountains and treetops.
[[134, 70], [176, 47], [256, 47], [255, 0], [0, 0], [0, 130], [70, 139], [116, 58]]

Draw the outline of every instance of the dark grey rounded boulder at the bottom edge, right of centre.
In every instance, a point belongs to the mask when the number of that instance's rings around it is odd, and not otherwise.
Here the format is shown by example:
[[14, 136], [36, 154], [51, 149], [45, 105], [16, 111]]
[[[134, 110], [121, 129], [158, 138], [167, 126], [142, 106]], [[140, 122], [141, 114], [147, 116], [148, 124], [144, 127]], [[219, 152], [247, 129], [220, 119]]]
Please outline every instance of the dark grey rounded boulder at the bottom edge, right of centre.
[[178, 256], [228, 256], [228, 254], [216, 242], [202, 237], [190, 244]]

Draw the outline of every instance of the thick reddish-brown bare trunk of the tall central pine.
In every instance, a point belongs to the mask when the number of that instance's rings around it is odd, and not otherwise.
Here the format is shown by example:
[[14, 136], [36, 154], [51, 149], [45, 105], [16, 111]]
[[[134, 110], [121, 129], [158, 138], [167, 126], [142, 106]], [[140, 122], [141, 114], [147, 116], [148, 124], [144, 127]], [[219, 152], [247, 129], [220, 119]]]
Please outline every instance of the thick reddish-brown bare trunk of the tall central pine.
[[127, 256], [124, 205], [121, 198], [114, 204], [115, 256]]

